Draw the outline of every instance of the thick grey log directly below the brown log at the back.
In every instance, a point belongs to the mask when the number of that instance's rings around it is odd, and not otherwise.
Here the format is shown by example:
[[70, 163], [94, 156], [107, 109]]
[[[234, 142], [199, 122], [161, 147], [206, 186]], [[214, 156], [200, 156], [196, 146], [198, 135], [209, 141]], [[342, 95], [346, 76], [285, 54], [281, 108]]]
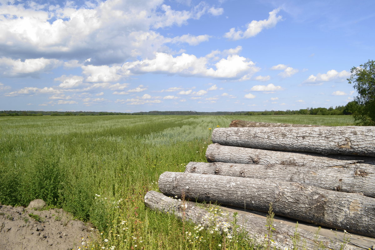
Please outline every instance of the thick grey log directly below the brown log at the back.
[[230, 127], [214, 129], [211, 139], [235, 147], [375, 156], [375, 127]]

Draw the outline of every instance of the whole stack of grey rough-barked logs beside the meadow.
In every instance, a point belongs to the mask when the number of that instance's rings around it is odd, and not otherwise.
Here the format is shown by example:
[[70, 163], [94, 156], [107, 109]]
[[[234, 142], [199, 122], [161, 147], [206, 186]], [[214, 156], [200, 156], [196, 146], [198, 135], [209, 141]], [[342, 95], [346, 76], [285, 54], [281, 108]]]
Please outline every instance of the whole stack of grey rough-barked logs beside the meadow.
[[[263, 212], [272, 203], [276, 215], [366, 236], [346, 249], [375, 245], [375, 127], [236, 120], [229, 128], [214, 129], [211, 139], [208, 163], [190, 162], [184, 173], [164, 172], [159, 178], [163, 194], [148, 192], [148, 207], [198, 224], [209, 212], [188, 200]], [[228, 213], [220, 220], [230, 221]], [[266, 234], [264, 217], [242, 213], [237, 219], [250, 237]], [[293, 249], [295, 228], [276, 224], [276, 245]], [[342, 247], [326, 235], [297, 230], [307, 249], [317, 241], [330, 249]]]

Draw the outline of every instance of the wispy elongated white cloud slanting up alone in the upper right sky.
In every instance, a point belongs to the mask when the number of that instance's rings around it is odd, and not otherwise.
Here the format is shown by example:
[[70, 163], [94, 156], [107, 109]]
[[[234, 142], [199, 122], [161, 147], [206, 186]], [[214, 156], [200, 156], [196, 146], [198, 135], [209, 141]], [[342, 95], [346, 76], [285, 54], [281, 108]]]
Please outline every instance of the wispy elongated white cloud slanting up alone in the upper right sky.
[[251, 21], [248, 25], [245, 31], [237, 30], [236, 28], [231, 28], [229, 32], [224, 34], [224, 37], [231, 39], [231, 40], [239, 40], [243, 38], [249, 38], [256, 36], [259, 34], [263, 29], [268, 29], [275, 27], [276, 24], [281, 21], [282, 16], [277, 16], [277, 13], [279, 13], [280, 9], [274, 9], [271, 12], [269, 12], [268, 19], [260, 20], [260, 21]]

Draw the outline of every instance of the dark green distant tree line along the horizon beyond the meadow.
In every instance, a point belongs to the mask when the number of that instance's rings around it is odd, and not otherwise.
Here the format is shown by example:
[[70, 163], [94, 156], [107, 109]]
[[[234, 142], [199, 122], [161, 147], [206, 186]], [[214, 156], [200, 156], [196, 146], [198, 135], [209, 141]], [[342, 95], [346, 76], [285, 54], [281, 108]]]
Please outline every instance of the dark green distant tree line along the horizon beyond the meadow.
[[306, 108], [300, 110], [286, 111], [217, 111], [217, 112], [197, 112], [197, 111], [148, 111], [135, 113], [121, 112], [92, 112], [92, 111], [0, 111], [0, 116], [19, 116], [19, 115], [351, 115], [359, 105], [356, 101], [349, 102], [345, 106], [336, 106], [335, 108]]

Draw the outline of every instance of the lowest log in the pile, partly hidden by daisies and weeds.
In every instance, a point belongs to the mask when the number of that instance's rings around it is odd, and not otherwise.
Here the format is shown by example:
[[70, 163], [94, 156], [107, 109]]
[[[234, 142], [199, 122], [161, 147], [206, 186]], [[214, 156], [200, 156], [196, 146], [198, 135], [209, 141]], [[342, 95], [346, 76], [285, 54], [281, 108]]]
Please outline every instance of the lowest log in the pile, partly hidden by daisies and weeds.
[[[161, 211], [166, 214], [173, 214], [180, 220], [187, 220], [195, 224], [210, 227], [210, 222], [207, 222], [207, 219], [204, 219], [204, 217], [210, 217], [213, 216], [213, 214], [208, 212], [208, 209], [200, 208], [193, 202], [177, 201], [155, 191], [149, 191], [144, 197], [144, 202], [147, 207], [153, 210]], [[217, 219], [217, 223], [231, 222], [233, 219], [233, 213], [225, 211], [225, 215], [216, 216], [215, 218]], [[249, 238], [254, 238], [260, 245], [264, 244], [262, 238], [267, 234], [265, 226], [267, 223], [264, 218], [251, 214], [238, 214], [237, 219], [237, 225], [240, 226], [238, 230], [245, 230], [248, 232]], [[284, 249], [284, 247], [294, 249], [291, 238], [294, 236], [295, 228], [279, 222], [274, 223], [274, 228], [276, 229], [276, 232], [273, 233], [273, 240], [278, 246], [278, 249]], [[322, 243], [329, 249], [339, 250], [342, 247], [341, 242], [332, 240], [331, 238], [316, 235], [300, 228], [297, 229], [297, 232], [301, 237], [299, 246], [301, 248], [302, 242], [304, 242], [306, 249], [315, 249], [314, 247], [316, 247], [318, 243]], [[347, 245], [345, 249], [360, 250], [361, 248]]]

